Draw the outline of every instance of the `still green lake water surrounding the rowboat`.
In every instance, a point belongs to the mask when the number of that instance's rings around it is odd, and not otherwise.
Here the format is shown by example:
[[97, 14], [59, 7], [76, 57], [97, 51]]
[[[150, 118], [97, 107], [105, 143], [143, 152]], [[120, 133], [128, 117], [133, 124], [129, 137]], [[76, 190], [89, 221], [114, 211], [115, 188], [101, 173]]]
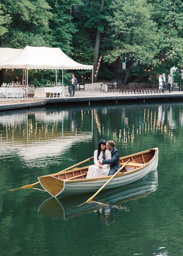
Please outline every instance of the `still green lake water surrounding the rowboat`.
[[[34, 183], [93, 155], [158, 147], [157, 171], [127, 186], [56, 201]], [[183, 103], [43, 108], [0, 113], [0, 256], [182, 256]]]

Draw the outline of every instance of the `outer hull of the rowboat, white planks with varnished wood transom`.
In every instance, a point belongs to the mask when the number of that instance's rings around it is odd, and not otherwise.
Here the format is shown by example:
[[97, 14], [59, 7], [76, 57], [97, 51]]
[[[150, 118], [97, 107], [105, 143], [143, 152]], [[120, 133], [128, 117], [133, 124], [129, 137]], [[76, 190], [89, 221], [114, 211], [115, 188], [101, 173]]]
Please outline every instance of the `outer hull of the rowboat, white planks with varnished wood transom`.
[[[133, 183], [149, 172], [156, 170], [158, 165], [158, 149], [154, 149], [154, 157], [142, 167], [129, 171], [126, 173], [120, 173], [111, 180], [104, 189], [113, 189], [119, 186], [125, 186]], [[100, 189], [111, 176], [101, 177], [96, 179], [79, 179], [79, 180], [61, 180], [57, 177], [39, 177], [41, 186], [54, 197], [65, 197], [67, 195], [83, 194], [89, 192], [96, 192]]]

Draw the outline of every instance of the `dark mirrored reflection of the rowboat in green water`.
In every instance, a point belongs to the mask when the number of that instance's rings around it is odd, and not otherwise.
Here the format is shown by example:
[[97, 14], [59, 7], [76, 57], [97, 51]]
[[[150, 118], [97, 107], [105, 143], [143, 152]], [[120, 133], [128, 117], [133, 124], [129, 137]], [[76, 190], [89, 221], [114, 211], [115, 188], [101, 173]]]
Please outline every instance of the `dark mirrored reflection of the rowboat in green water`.
[[48, 198], [38, 209], [38, 212], [49, 218], [74, 218], [86, 212], [95, 212], [99, 215], [99, 220], [105, 221], [105, 224], [113, 222], [113, 212], [118, 209], [128, 211], [128, 207], [122, 207], [122, 204], [147, 196], [149, 193], [157, 190], [158, 174], [157, 170], [149, 172], [142, 179], [99, 193], [95, 203], [84, 204], [78, 207], [79, 204], [85, 202], [93, 193], [87, 195], [75, 195], [65, 198]]

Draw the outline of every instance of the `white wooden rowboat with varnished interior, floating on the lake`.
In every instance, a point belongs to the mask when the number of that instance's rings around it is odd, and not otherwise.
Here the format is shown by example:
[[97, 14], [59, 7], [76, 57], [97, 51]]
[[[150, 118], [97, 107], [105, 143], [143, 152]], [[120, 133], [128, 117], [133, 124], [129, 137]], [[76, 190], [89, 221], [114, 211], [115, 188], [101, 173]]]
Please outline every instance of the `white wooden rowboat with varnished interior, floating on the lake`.
[[[152, 170], [157, 169], [158, 148], [151, 148], [125, 157], [120, 157], [119, 163], [122, 166], [126, 161], [125, 168], [105, 186], [105, 189], [112, 189], [132, 183], [141, 179]], [[95, 192], [103, 186], [111, 176], [86, 179], [90, 166], [74, 168], [58, 174], [44, 175], [38, 180], [50, 195], [53, 197], [75, 195]]]

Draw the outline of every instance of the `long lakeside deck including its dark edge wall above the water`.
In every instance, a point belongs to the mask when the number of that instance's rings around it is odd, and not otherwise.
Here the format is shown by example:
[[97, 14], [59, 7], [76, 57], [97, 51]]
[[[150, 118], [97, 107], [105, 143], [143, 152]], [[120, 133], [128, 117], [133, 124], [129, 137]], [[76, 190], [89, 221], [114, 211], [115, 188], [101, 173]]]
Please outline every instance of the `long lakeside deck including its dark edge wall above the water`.
[[69, 106], [69, 105], [91, 105], [107, 103], [126, 103], [126, 102], [150, 102], [150, 101], [171, 101], [183, 99], [183, 91], [173, 91], [171, 93], [148, 93], [148, 94], [122, 94], [118, 92], [102, 93], [100, 90], [76, 91], [74, 97], [65, 98], [1, 98], [0, 111], [12, 111], [21, 108], [38, 108], [47, 106]]

